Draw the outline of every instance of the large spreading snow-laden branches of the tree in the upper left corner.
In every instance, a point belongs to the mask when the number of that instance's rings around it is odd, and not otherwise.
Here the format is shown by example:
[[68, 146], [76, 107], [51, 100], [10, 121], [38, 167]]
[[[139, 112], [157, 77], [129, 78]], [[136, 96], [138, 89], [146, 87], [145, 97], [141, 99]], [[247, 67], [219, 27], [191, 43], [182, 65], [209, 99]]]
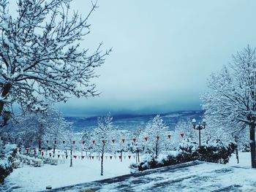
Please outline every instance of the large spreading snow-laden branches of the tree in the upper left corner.
[[[0, 114], [13, 102], [26, 106], [43, 98], [67, 101], [70, 95], [97, 96], [94, 69], [105, 62], [80, 42], [89, 34], [88, 19], [72, 12], [72, 0], [0, 0]], [[17, 17], [9, 10], [17, 10]]]

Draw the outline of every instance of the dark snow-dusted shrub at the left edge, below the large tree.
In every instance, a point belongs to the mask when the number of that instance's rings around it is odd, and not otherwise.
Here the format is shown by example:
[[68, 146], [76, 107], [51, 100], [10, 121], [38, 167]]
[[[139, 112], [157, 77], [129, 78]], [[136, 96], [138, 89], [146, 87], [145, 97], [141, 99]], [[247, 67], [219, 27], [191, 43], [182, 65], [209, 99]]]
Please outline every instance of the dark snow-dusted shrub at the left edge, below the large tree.
[[4, 178], [12, 172], [12, 161], [17, 153], [16, 145], [4, 145], [0, 140], [0, 183], [4, 183]]

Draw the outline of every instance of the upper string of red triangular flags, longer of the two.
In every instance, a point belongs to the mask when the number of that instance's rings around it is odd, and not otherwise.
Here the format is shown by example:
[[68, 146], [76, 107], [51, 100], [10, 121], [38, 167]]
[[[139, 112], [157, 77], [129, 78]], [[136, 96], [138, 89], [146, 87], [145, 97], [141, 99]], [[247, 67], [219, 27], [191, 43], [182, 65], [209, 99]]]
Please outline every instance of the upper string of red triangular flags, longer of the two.
[[[172, 137], [172, 135], [171, 134], [167, 134], [167, 139], [170, 139]], [[179, 134], [179, 137], [181, 137], [181, 138], [184, 138], [185, 137], [185, 135], [184, 135], [184, 133], [181, 133], [181, 134]], [[9, 138], [10, 139], [10, 138]], [[159, 139], [161, 139], [159, 136], [157, 136], [156, 137], [156, 140], [158, 141]], [[12, 139], [10, 139], [10, 141], [11, 141]], [[15, 140], [15, 142], [17, 142], [17, 140], [18, 140], [18, 138], [15, 138], [14, 139]], [[148, 137], [144, 137], [144, 139], [143, 139], [145, 142], [147, 142], [148, 141]], [[102, 139], [101, 140], [101, 142], [102, 142], [102, 144], [104, 145], [105, 143], [107, 143], [108, 141], [110, 141], [111, 143], [115, 143], [115, 142], [117, 142], [118, 140], [117, 139], [110, 139], [110, 140], [107, 140], [107, 139]], [[124, 143], [124, 142], [138, 142], [138, 139], [137, 138], [132, 138], [132, 139], [121, 139], [120, 140], [120, 142], [121, 143]], [[26, 139], [23, 139], [23, 142], [25, 143], [26, 142]], [[33, 139], [29, 139], [29, 142], [33, 142]], [[47, 145], [49, 145], [50, 144], [50, 140], [46, 140], [45, 141], [46, 142], [46, 144]], [[96, 141], [96, 140], [92, 140], [91, 141], [92, 142], [92, 144], [93, 145], [95, 145], [97, 142], [99, 142], [99, 141]], [[42, 140], [41, 139], [39, 139], [38, 140], [38, 143], [39, 143], [39, 145], [40, 144], [42, 144]], [[66, 143], [66, 141], [65, 140], [62, 140], [62, 144], [63, 145], [65, 145], [65, 143]], [[73, 140], [72, 141], [72, 144], [73, 145], [75, 145], [77, 143], [77, 141], [75, 141], [75, 140]], [[78, 143], [82, 143], [83, 145], [86, 143], [86, 140], [81, 140], [80, 142], [78, 142]], [[53, 140], [53, 144], [54, 145], [57, 145], [57, 140]]]

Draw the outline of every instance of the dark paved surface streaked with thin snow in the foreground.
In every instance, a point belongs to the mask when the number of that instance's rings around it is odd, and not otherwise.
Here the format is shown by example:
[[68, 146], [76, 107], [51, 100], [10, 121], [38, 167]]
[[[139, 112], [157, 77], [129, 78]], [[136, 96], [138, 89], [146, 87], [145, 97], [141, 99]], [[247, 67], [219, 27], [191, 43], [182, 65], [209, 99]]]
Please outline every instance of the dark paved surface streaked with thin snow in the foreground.
[[256, 170], [192, 161], [53, 191], [256, 191]]

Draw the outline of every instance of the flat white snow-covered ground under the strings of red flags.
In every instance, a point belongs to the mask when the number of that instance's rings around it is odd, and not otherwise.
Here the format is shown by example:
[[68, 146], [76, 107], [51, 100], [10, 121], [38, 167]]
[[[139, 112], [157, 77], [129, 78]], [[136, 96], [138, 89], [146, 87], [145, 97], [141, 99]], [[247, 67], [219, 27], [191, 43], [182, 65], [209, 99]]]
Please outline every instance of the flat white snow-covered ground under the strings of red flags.
[[[233, 155], [227, 166], [249, 168], [250, 153], [239, 153], [239, 155], [240, 164], [236, 164], [236, 155]], [[104, 176], [100, 176], [100, 161], [95, 158], [94, 160], [74, 159], [72, 167], [69, 167], [69, 159], [57, 166], [49, 164], [41, 167], [23, 165], [23, 167], [15, 169], [7, 177], [5, 187], [6, 189], [12, 188], [12, 191], [42, 191], [48, 185], [51, 185], [53, 188], [59, 188], [66, 185], [116, 177], [129, 174], [129, 164], [135, 162], [135, 158], [126, 158], [122, 162], [118, 158], [112, 158], [111, 160], [108, 158], [104, 159], [104, 161]], [[14, 186], [17, 187], [16, 190], [13, 189]]]

